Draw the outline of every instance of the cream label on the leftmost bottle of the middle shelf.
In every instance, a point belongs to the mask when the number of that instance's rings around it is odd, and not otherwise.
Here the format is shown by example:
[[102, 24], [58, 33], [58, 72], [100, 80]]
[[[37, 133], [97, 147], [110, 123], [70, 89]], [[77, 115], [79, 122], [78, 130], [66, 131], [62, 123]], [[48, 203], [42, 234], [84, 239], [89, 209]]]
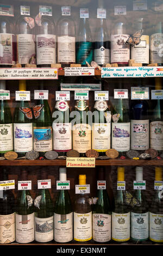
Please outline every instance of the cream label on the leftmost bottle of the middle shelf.
[[0, 124], [0, 153], [13, 150], [12, 124]]

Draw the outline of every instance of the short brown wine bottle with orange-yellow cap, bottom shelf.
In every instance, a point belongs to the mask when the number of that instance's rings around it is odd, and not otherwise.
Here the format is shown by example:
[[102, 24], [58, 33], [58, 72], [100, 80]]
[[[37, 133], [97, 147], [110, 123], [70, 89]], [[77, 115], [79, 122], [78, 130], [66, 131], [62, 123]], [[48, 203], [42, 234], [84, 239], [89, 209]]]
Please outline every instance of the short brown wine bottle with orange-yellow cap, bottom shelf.
[[[79, 185], [86, 185], [86, 175], [79, 175]], [[77, 194], [74, 203], [74, 240], [86, 242], [92, 239], [92, 210], [89, 204], [89, 194]]]

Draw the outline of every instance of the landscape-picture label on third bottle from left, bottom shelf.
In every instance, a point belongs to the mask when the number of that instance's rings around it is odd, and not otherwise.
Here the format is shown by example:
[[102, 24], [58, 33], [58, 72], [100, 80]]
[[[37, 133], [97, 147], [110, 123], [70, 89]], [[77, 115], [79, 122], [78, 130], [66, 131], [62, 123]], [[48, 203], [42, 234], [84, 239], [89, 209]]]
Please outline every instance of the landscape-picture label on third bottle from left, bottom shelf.
[[54, 217], [35, 217], [35, 240], [37, 242], [49, 242], [54, 239]]

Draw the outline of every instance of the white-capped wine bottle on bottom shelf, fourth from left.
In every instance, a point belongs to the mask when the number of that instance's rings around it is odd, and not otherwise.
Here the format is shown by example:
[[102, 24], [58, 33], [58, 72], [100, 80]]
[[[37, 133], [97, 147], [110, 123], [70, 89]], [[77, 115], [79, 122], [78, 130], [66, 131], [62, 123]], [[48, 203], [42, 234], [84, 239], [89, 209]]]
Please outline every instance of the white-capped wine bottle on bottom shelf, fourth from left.
[[[65, 167], [59, 168], [59, 181], [67, 181]], [[71, 199], [68, 190], [60, 190], [54, 209], [54, 240], [65, 243], [72, 239], [73, 213]]]

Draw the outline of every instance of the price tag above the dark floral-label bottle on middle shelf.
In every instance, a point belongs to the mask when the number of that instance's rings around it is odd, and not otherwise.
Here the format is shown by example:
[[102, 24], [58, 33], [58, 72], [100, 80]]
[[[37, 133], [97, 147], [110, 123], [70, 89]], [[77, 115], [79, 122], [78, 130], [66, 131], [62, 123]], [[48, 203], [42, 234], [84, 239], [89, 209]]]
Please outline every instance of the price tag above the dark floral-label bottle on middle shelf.
[[149, 87], [131, 87], [131, 100], [149, 100]]

